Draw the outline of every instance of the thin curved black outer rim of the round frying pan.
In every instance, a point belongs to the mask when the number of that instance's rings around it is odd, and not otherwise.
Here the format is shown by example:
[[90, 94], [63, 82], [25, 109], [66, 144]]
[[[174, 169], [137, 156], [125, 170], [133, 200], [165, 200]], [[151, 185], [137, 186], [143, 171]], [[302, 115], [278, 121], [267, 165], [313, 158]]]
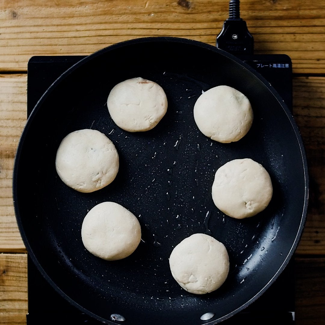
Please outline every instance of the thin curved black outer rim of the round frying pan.
[[42, 276], [46, 279], [46, 281], [52, 286], [52, 288], [55, 289], [55, 291], [57, 293], [59, 293], [59, 295], [62, 296], [64, 299], [66, 299], [70, 304], [74, 305], [75, 307], [77, 307], [82, 312], [85, 312], [87, 315], [89, 315], [89, 316], [91, 316], [91, 317], [93, 317], [93, 318], [95, 318], [95, 319], [97, 319], [99, 321], [102, 321], [102, 322], [104, 321], [106, 323], [109, 322], [109, 323], [113, 324], [112, 321], [101, 318], [98, 315], [95, 315], [94, 313], [92, 313], [89, 310], [85, 309], [83, 306], [77, 304], [72, 298], [70, 298], [70, 296], [68, 296], [66, 293], [64, 293], [57, 286], [57, 284], [55, 284], [55, 282], [50, 278], [50, 276], [47, 275], [47, 273], [45, 272], [45, 270], [42, 267], [41, 263], [36, 258], [35, 254], [34, 254], [34, 252], [32, 250], [32, 247], [30, 246], [29, 241], [27, 239], [26, 233], [25, 233], [24, 228], [22, 226], [21, 216], [19, 214], [19, 204], [18, 204], [18, 196], [17, 196], [17, 174], [18, 174], [18, 169], [19, 169], [19, 160], [20, 160], [20, 154], [21, 154], [21, 151], [22, 151], [22, 148], [23, 148], [23, 145], [24, 145], [24, 140], [28, 136], [28, 130], [30, 128], [30, 125], [32, 123], [34, 115], [40, 109], [43, 102], [46, 100], [48, 94], [50, 94], [56, 88], [56, 86], [62, 80], [64, 80], [70, 73], [72, 73], [74, 70], [78, 69], [78, 67], [82, 66], [83, 64], [85, 64], [89, 60], [95, 59], [96, 57], [100, 56], [102, 53], [108, 52], [110, 50], [117, 49], [117, 48], [120, 48], [120, 47], [123, 47], [123, 46], [133, 45], [133, 44], [146, 43], [146, 42], [160, 42], [160, 41], [165, 41], [165, 42], [169, 42], [169, 43], [170, 42], [175, 42], [175, 43], [182, 43], [182, 44], [188, 44], [188, 45], [195, 45], [195, 46], [198, 46], [198, 47], [201, 47], [201, 48], [212, 50], [214, 52], [219, 52], [221, 55], [227, 57], [228, 59], [231, 59], [232, 61], [235, 61], [237, 64], [241, 65], [244, 69], [246, 69], [249, 72], [253, 73], [253, 75], [255, 75], [263, 83], [263, 85], [271, 92], [271, 94], [277, 99], [277, 101], [281, 105], [282, 109], [285, 111], [285, 113], [286, 113], [286, 115], [287, 115], [287, 117], [288, 117], [288, 119], [289, 119], [289, 121], [291, 123], [292, 129], [294, 130], [296, 139], [297, 139], [298, 144], [299, 144], [300, 154], [301, 154], [301, 157], [302, 157], [302, 163], [303, 163], [303, 169], [304, 169], [304, 181], [305, 181], [305, 200], [304, 200], [304, 207], [303, 207], [303, 210], [302, 210], [302, 216], [301, 216], [299, 228], [298, 228], [296, 237], [295, 237], [295, 239], [294, 239], [294, 241], [292, 243], [292, 246], [291, 246], [291, 249], [290, 249], [289, 253], [287, 254], [285, 260], [282, 263], [282, 265], [279, 267], [278, 271], [268, 281], [268, 283], [258, 293], [255, 294], [254, 297], [252, 297], [245, 304], [241, 305], [240, 307], [238, 307], [237, 309], [235, 309], [232, 312], [228, 313], [227, 315], [205, 323], [205, 324], [212, 325], [212, 324], [216, 324], [218, 322], [221, 322], [221, 321], [223, 321], [223, 320], [225, 320], [227, 318], [230, 318], [234, 314], [238, 313], [239, 311], [243, 310], [248, 305], [253, 303], [279, 277], [279, 275], [281, 274], [283, 269], [287, 266], [290, 259], [292, 258], [292, 255], [293, 255], [294, 251], [296, 250], [297, 245], [299, 243], [299, 240], [301, 238], [301, 235], [302, 235], [302, 232], [303, 232], [303, 229], [304, 229], [304, 226], [305, 226], [305, 221], [306, 221], [307, 205], [308, 205], [308, 193], [309, 193], [309, 188], [308, 188], [308, 186], [309, 186], [309, 177], [308, 177], [308, 168], [307, 168], [307, 160], [306, 160], [305, 149], [304, 149], [304, 146], [303, 146], [303, 141], [302, 141], [301, 135], [299, 133], [298, 127], [297, 127], [297, 125], [296, 125], [296, 123], [295, 123], [295, 121], [293, 119], [293, 116], [292, 116], [290, 110], [288, 109], [288, 107], [285, 104], [284, 100], [279, 96], [277, 91], [272, 87], [272, 85], [270, 85], [270, 83], [260, 73], [258, 73], [251, 66], [249, 66], [247, 63], [243, 62], [241, 59], [235, 57], [234, 55], [232, 55], [232, 54], [230, 54], [230, 53], [228, 53], [226, 51], [223, 51], [221, 49], [218, 49], [213, 45], [209, 45], [209, 44], [206, 44], [206, 43], [202, 43], [202, 42], [187, 39], [187, 38], [179, 38], [179, 37], [143, 37], [143, 38], [131, 39], [131, 40], [128, 40], [128, 41], [119, 42], [119, 43], [107, 46], [105, 48], [102, 48], [102, 49], [94, 52], [93, 54], [90, 54], [90, 55], [86, 56], [85, 58], [83, 58], [80, 61], [73, 64], [72, 67], [70, 67], [68, 70], [63, 72], [47, 88], [45, 93], [38, 100], [38, 102], [36, 103], [35, 107], [33, 108], [32, 112], [31, 112], [31, 114], [30, 114], [30, 116], [29, 116], [29, 118], [28, 118], [28, 120], [27, 120], [27, 122], [25, 124], [24, 130], [23, 130], [23, 132], [21, 134], [21, 137], [19, 139], [19, 144], [18, 144], [18, 147], [17, 147], [17, 152], [16, 152], [15, 160], [14, 160], [14, 169], [13, 169], [13, 203], [14, 203], [15, 216], [16, 216], [19, 231], [20, 231], [22, 240], [23, 240], [23, 242], [24, 242], [24, 244], [26, 246], [28, 255], [31, 257], [32, 262], [37, 267], [38, 271], [42, 274]]

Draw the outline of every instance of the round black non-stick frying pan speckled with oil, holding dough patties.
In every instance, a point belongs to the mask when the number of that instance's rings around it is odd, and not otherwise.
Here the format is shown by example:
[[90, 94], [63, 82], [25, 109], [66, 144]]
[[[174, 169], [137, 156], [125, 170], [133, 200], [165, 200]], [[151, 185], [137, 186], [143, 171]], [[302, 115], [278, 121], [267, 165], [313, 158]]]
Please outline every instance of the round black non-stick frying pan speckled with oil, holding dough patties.
[[[152, 130], [129, 133], [110, 119], [106, 100], [117, 83], [141, 76], [157, 82], [168, 111]], [[229, 85], [251, 101], [254, 121], [240, 141], [203, 136], [193, 105], [205, 91]], [[79, 193], [55, 170], [68, 133], [93, 128], [120, 156], [106, 188]], [[215, 171], [252, 158], [269, 172], [274, 195], [262, 213], [236, 220], [213, 204]], [[109, 323], [215, 324], [253, 302], [288, 263], [306, 216], [308, 177], [296, 124], [284, 102], [249, 66], [213, 46], [179, 38], [145, 38], [107, 47], [78, 62], [46, 91], [27, 121], [14, 167], [15, 210], [29, 255], [47, 281], [85, 313]], [[87, 211], [115, 201], [138, 216], [142, 241], [124, 260], [108, 262], [81, 241]], [[172, 278], [168, 257], [185, 237], [203, 232], [220, 240], [230, 272], [215, 292], [194, 295]], [[214, 313], [201, 320], [206, 312]]]

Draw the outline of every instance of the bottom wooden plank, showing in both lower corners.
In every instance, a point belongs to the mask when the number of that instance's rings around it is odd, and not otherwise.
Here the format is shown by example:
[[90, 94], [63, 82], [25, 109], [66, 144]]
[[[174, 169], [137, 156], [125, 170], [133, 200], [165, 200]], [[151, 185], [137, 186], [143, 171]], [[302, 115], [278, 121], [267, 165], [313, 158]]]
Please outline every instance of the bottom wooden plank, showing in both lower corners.
[[[296, 325], [325, 318], [325, 258], [295, 258]], [[0, 324], [26, 324], [27, 255], [0, 254]]]

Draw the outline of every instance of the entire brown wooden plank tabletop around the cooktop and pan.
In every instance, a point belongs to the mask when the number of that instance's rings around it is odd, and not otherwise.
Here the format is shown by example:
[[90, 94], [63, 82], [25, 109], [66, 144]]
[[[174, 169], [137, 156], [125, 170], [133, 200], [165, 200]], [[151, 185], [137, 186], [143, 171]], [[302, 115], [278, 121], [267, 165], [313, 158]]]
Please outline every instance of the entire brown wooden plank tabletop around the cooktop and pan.
[[[293, 115], [307, 153], [310, 200], [295, 252], [296, 324], [325, 319], [325, 1], [242, 0], [255, 53], [288, 54]], [[16, 224], [12, 170], [26, 122], [27, 61], [88, 55], [144, 36], [214, 45], [227, 0], [0, 1], [0, 324], [24, 324], [27, 254]], [[27, 188], [27, 185], [26, 185]]]

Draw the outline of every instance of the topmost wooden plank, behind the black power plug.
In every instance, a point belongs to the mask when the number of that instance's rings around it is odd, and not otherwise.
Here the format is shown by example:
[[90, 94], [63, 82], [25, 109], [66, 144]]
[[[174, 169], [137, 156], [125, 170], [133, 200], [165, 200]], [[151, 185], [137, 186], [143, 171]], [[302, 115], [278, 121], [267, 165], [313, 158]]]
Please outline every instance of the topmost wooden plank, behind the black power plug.
[[[256, 53], [286, 53], [293, 72], [325, 73], [325, 2], [246, 0], [240, 12]], [[227, 17], [224, 0], [5, 0], [0, 3], [0, 71], [26, 71], [33, 55], [88, 55], [146, 36], [214, 45]]]

